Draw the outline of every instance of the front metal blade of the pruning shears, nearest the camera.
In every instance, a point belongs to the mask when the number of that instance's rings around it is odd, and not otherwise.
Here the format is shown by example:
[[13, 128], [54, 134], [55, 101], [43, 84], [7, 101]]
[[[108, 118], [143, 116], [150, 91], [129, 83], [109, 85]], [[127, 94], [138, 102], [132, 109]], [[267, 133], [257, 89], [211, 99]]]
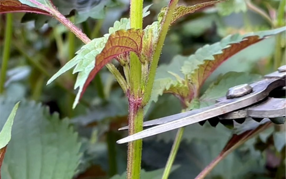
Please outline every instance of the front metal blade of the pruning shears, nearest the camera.
[[[269, 95], [269, 92], [274, 88], [277, 88], [278, 86], [285, 86], [285, 80], [281, 80], [279, 78], [263, 79], [251, 84], [251, 86], [253, 87], [253, 92], [248, 95], [234, 99], [226, 99], [226, 97], [222, 97], [219, 99], [219, 103], [216, 103], [212, 106], [196, 109], [182, 113], [180, 115], [178, 114], [177, 116], [172, 115], [171, 119], [174, 119], [173, 121], [163, 123], [161, 125], [157, 125], [155, 127], [151, 127], [149, 129], [145, 129], [141, 132], [127, 136], [118, 140], [117, 143], [126, 143], [137, 139], [142, 139], [247, 107], [266, 98]], [[175, 118], [179, 116], [181, 118], [175, 120]]]

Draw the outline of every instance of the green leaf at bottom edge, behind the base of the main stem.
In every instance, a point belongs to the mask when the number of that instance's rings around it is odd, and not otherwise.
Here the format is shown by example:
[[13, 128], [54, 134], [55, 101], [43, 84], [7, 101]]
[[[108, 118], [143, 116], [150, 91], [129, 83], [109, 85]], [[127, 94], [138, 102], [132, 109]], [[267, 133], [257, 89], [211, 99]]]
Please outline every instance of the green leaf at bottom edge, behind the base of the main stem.
[[[176, 170], [179, 166], [173, 166], [172, 171]], [[163, 175], [164, 168], [159, 170], [154, 170], [150, 172], [146, 172], [145, 170], [141, 170], [140, 174], [142, 179], [160, 179]], [[124, 172], [122, 175], [115, 175], [111, 179], [125, 179], [126, 178], [126, 172]]]

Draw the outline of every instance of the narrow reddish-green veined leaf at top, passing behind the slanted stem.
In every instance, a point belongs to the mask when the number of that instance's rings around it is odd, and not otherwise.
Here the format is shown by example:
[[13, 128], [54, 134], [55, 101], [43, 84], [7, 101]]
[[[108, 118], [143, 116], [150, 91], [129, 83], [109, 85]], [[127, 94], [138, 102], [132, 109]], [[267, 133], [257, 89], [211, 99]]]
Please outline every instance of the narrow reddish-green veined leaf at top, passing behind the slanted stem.
[[[216, 3], [220, 3], [223, 2], [225, 0], [219, 0], [219, 1], [208, 1], [208, 2], [204, 2], [204, 3], [198, 3], [195, 5], [190, 5], [190, 6], [184, 6], [184, 5], [180, 5], [177, 6], [174, 10], [174, 13], [172, 15], [172, 19], [171, 19], [171, 24], [174, 23], [177, 19], [179, 19], [180, 17], [190, 14], [190, 13], [194, 13], [197, 10], [209, 6], [209, 5], [213, 5]], [[160, 13], [158, 14], [158, 19], [160, 22], [160, 19], [162, 19], [162, 17], [165, 15], [166, 11], [168, 10], [168, 7], [163, 7], [160, 11]]]

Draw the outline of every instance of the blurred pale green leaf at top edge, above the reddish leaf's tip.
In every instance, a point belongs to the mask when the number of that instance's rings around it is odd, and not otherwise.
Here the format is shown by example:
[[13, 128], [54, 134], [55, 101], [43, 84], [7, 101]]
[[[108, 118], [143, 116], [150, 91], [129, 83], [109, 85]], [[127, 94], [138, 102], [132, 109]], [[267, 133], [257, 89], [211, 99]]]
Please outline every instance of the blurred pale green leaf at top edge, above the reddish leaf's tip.
[[220, 15], [230, 15], [231, 13], [246, 12], [247, 6], [245, 0], [228, 0], [216, 4], [218, 13]]

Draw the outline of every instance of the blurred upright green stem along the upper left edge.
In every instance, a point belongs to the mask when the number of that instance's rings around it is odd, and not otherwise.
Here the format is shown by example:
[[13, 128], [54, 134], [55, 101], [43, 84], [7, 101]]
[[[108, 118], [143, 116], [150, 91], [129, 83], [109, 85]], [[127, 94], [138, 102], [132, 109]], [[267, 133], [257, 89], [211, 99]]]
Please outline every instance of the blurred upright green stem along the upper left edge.
[[12, 13], [6, 14], [6, 29], [5, 29], [5, 41], [3, 50], [3, 59], [1, 66], [1, 76], [0, 76], [0, 93], [4, 91], [4, 85], [6, 81], [6, 71], [8, 67], [8, 60], [10, 58], [10, 45], [12, 39], [12, 25], [13, 25], [13, 15]]

